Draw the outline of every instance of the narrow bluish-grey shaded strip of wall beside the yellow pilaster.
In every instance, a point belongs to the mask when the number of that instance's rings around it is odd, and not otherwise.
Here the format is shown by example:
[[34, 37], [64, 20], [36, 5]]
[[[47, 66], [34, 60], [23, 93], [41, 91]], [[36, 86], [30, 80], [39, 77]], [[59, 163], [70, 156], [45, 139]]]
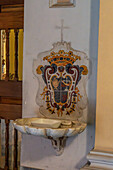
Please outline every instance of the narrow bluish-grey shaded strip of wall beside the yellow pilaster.
[[[98, 59], [98, 30], [99, 30], [99, 7], [100, 0], [91, 0], [90, 18], [90, 51], [91, 76], [88, 81], [88, 126], [87, 126], [87, 148], [86, 155], [93, 149], [95, 144], [95, 117], [96, 117], [96, 89], [97, 89], [97, 59]], [[76, 166], [80, 169], [86, 164], [84, 157]]]

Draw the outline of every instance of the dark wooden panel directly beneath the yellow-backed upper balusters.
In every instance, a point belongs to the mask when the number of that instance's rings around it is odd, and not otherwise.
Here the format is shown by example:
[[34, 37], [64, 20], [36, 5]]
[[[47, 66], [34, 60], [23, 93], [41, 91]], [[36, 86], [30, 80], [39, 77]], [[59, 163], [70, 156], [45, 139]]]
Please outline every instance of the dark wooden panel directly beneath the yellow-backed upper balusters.
[[0, 81], [0, 96], [22, 98], [22, 82]]

